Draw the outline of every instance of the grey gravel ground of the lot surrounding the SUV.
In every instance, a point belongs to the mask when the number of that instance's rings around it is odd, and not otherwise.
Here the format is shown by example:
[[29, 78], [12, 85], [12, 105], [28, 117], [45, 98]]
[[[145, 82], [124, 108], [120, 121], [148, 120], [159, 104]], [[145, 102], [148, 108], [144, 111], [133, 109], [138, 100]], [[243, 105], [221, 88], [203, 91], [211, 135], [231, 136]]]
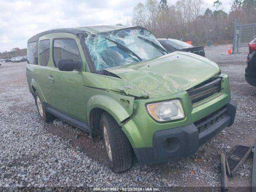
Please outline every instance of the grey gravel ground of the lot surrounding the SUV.
[[[0, 66], [0, 186], [175, 187], [220, 186], [215, 166], [223, 147], [253, 146], [256, 136], [256, 87], [244, 80], [246, 55], [227, 55], [228, 46], [206, 47], [206, 56], [230, 77], [237, 115], [232, 127], [218, 134], [189, 158], [156, 165], [133, 161], [126, 172], [113, 173], [102, 142], [62, 120], [40, 120], [26, 82], [26, 63]], [[250, 186], [252, 158], [229, 179], [234, 187]], [[232, 188], [234, 191], [235, 188]]]

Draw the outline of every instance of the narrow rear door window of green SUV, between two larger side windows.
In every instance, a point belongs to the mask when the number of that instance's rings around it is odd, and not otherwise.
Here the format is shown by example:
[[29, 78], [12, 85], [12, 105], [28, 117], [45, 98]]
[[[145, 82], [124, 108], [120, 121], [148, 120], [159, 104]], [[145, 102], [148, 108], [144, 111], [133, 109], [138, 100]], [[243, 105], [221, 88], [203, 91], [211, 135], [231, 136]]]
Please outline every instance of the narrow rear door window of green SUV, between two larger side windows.
[[39, 59], [40, 65], [47, 66], [49, 61], [50, 53], [50, 40], [41, 40], [39, 42]]

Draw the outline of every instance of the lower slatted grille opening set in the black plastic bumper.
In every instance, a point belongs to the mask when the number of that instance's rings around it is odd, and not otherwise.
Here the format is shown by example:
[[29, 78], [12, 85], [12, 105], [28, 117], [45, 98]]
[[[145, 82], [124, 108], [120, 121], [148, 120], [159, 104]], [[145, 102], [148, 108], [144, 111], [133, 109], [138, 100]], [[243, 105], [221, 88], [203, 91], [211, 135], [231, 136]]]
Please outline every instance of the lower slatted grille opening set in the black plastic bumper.
[[200, 133], [221, 121], [224, 117], [227, 116], [227, 114], [225, 113], [226, 110], [226, 106], [223, 106], [212, 114], [194, 122], [194, 125], [198, 129], [198, 132]]

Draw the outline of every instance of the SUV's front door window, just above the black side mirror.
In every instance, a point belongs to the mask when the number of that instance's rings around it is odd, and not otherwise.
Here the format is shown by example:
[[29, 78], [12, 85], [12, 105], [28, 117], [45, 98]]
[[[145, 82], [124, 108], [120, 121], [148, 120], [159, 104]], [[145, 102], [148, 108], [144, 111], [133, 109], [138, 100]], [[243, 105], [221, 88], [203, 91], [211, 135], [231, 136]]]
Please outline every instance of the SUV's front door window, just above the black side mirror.
[[58, 60], [72, 59], [82, 62], [76, 41], [74, 39], [56, 39], [53, 42], [53, 58], [55, 66], [58, 67]]

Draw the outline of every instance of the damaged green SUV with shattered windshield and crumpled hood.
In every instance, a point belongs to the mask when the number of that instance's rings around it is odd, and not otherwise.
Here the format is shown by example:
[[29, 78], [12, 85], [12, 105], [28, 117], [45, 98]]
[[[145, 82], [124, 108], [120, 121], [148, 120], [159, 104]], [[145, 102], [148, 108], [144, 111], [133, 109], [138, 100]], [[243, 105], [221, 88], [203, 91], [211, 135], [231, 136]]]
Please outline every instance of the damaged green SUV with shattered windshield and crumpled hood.
[[110, 167], [194, 154], [226, 126], [236, 104], [228, 76], [188, 52], [168, 54], [142, 27], [90, 26], [28, 40], [26, 75], [42, 120], [55, 116], [103, 139]]

